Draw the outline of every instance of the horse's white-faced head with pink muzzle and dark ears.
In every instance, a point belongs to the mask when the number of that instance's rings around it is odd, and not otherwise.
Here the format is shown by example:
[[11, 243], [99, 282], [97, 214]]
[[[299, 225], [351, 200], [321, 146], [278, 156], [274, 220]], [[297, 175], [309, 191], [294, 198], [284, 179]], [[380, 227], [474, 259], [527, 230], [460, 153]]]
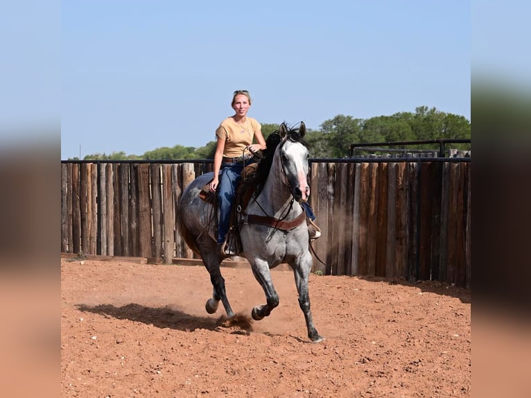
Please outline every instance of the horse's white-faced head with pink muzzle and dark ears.
[[308, 143], [304, 141], [306, 126], [300, 123], [298, 129], [288, 129], [286, 123], [279, 128], [281, 143], [279, 157], [282, 172], [286, 176], [288, 187], [297, 202], [306, 202], [310, 196], [308, 185]]

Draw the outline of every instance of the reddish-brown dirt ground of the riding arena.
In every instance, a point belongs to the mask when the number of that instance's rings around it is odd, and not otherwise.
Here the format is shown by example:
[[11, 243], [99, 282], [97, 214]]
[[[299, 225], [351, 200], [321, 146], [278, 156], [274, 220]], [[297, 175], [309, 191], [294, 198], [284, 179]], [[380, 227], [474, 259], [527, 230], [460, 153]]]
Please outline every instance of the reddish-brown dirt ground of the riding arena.
[[[62, 397], [470, 397], [470, 291], [438, 282], [311, 275], [311, 343], [287, 266], [280, 305], [249, 266], [223, 267], [232, 308], [204, 310], [202, 266], [61, 260]], [[225, 325], [224, 325], [225, 324]]]

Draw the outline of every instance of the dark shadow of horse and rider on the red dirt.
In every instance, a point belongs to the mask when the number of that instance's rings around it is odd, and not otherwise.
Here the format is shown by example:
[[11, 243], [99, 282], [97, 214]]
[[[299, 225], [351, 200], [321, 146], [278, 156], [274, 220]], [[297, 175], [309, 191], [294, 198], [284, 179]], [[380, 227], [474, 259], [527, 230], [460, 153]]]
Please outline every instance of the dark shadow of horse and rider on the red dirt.
[[181, 331], [194, 331], [195, 329], [215, 330], [220, 325], [223, 325], [226, 320], [223, 316], [213, 319], [190, 315], [168, 307], [155, 308], [134, 303], [118, 307], [112, 304], [96, 306], [77, 304], [77, 307], [80, 311], [97, 313], [107, 318], [132, 320], [133, 322], [142, 322], [162, 329], [167, 327]]

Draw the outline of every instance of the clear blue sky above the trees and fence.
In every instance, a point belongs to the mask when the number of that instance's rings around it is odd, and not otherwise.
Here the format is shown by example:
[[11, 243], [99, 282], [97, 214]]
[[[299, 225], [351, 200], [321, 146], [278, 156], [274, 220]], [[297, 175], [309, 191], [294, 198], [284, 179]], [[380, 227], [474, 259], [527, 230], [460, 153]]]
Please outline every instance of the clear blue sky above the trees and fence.
[[61, 158], [204, 146], [235, 89], [261, 123], [470, 119], [470, 19], [463, 0], [62, 1]]

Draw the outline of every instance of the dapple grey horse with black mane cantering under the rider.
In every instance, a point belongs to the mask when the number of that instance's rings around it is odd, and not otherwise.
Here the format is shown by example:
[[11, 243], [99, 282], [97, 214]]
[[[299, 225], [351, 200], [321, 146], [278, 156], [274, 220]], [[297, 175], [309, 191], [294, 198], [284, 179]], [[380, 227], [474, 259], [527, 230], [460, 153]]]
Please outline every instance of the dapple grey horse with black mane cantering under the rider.
[[[301, 122], [299, 128], [288, 129], [286, 123], [282, 123], [271, 136], [275, 134], [277, 142], [271, 144], [268, 137], [268, 148], [258, 166], [258, 186], [249, 204], [238, 213], [242, 249], [238, 254], [249, 261], [254, 277], [265, 293], [266, 304], [255, 306], [252, 318], [261, 320], [279, 305], [270, 269], [280, 263], [288, 263], [295, 275], [308, 338], [318, 342], [323, 338], [313, 325], [308, 295], [312, 266], [308, 227], [304, 210], [299, 205], [299, 202], [308, 200], [310, 194], [308, 144], [304, 141], [306, 127]], [[207, 300], [207, 312], [215, 313], [221, 301], [227, 316], [232, 318], [234, 312], [220, 272], [220, 263], [225, 256], [216, 250], [216, 212], [199, 196], [201, 189], [212, 178], [213, 173], [200, 175], [184, 189], [177, 209], [177, 225], [186, 244], [201, 256], [209, 271], [214, 292]]]

